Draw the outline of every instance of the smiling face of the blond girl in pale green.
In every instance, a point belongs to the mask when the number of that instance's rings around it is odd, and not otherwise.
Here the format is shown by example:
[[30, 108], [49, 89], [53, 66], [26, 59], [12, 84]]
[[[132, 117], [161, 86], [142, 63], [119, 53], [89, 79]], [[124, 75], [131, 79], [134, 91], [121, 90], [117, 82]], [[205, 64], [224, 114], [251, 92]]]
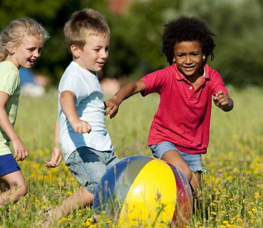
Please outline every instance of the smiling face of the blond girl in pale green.
[[12, 43], [7, 44], [9, 55], [6, 60], [14, 63], [17, 68], [32, 68], [35, 61], [40, 57], [43, 45], [42, 39], [26, 35], [18, 46], [13, 46]]

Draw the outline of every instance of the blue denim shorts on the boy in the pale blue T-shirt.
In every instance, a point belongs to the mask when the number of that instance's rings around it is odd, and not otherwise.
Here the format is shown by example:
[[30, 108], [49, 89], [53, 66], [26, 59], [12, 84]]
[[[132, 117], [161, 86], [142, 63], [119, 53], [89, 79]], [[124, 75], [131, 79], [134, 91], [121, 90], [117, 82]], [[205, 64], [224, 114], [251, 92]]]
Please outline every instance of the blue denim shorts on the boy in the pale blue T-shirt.
[[78, 183], [94, 193], [102, 175], [120, 159], [113, 151], [96, 151], [89, 147], [80, 147], [66, 160], [66, 166]]

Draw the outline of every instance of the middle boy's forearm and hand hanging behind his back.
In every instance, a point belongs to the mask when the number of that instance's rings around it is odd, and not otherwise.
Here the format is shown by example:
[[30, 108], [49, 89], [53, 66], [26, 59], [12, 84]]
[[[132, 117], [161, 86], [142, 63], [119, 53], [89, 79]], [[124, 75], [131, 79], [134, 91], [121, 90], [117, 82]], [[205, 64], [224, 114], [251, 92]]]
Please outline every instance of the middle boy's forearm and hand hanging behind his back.
[[63, 159], [63, 155], [60, 148], [60, 126], [59, 126], [59, 121], [57, 119], [55, 126], [54, 147], [52, 149], [51, 159], [49, 161], [45, 161], [45, 166], [49, 168], [56, 167], [61, 163], [62, 159]]

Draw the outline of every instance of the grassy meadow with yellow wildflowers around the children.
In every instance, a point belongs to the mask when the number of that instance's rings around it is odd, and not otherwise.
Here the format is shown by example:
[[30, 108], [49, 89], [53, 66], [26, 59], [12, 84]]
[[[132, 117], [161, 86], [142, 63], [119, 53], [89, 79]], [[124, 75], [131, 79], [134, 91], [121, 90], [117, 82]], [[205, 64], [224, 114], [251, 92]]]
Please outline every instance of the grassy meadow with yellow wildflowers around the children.
[[[189, 228], [263, 227], [263, 89], [229, 88], [234, 109], [224, 113], [213, 105], [210, 143], [202, 156], [204, 168], [197, 210]], [[149, 127], [159, 104], [156, 94], [135, 95], [125, 101], [114, 119], [106, 119], [120, 158], [150, 155], [146, 150]], [[39, 227], [39, 210], [59, 205], [79, 188], [64, 163], [44, 166], [53, 145], [57, 116], [56, 91], [41, 98], [21, 97], [15, 129], [30, 151], [20, 162], [29, 193], [15, 205], [0, 209], [1, 228]], [[9, 209], [7, 212], [6, 209]], [[62, 218], [54, 227], [114, 227], [114, 221], [91, 220], [85, 208]]]

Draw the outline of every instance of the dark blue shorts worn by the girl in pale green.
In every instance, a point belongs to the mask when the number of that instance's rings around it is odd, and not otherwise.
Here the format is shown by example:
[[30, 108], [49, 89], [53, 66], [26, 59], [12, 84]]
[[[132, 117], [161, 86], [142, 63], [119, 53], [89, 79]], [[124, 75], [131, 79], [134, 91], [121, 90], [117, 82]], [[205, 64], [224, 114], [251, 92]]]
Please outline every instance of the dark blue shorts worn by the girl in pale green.
[[12, 153], [0, 155], [0, 176], [21, 170]]

